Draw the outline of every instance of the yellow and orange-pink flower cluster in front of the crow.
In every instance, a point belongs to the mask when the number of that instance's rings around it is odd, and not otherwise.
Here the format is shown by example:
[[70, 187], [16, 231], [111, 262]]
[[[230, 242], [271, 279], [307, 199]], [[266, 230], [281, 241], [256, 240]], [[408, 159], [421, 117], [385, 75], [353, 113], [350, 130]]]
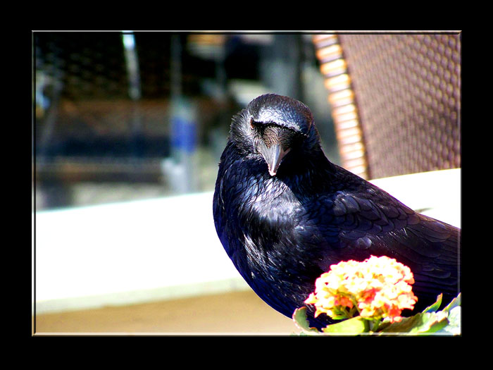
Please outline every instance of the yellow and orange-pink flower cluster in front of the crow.
[[342, 261], [316, 280], [316, 290], [305, 303], [315, 304], [315, 316], [348, 319], [357, 311], [366, 319], [401, 321], [401, 311], [413, 309], [418, 301], [413, 283], [411, 270], [389, 257]]

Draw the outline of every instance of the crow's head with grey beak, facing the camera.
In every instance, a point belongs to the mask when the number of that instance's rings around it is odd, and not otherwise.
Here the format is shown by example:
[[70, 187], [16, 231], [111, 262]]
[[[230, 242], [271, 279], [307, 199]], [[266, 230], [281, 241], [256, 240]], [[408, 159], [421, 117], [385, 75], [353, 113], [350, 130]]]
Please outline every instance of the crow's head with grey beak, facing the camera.
[[257, 97], [233, 117], [230, 138], [244, 154], [262, 156], [271, 176], [288, 153], [296, 156], [318, 145], [308, 106], [276, 94]]

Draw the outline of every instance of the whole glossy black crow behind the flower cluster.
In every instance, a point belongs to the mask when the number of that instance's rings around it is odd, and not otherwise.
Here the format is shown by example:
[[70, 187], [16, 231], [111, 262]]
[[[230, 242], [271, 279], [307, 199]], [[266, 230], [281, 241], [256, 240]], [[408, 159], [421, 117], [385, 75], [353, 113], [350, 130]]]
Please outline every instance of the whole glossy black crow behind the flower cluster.
[[[460, 229], [328, 161], [311, 111], [289, 97], [262, 95], [233, 117], [213, 215], [239, 273], [289, 317], [330, 265], [370, 255], [411, 268], [415, 312], [441, 292], [444, 302], [458, 294]], [[313, 326], [330, 323], [308, 311]]]

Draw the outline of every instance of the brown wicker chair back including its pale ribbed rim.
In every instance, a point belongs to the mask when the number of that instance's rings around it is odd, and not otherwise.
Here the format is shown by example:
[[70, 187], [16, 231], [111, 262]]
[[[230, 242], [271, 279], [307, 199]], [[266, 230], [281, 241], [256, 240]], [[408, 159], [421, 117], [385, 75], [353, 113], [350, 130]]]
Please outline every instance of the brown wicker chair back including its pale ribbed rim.
[[461, 35], [315, 35], [342, 165], [363, 178], [461, 166]]

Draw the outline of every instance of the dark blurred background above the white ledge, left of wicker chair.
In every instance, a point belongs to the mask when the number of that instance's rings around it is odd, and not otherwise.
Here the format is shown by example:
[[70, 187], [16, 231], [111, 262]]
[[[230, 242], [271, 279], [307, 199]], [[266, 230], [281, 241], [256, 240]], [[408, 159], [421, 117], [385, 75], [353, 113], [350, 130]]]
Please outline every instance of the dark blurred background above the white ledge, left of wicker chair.
[[266, 92], [308, 104], [337, 162], [311, 35], [35, 32], [33, 51], [37, 211], [213, 190], [232, 115]]

